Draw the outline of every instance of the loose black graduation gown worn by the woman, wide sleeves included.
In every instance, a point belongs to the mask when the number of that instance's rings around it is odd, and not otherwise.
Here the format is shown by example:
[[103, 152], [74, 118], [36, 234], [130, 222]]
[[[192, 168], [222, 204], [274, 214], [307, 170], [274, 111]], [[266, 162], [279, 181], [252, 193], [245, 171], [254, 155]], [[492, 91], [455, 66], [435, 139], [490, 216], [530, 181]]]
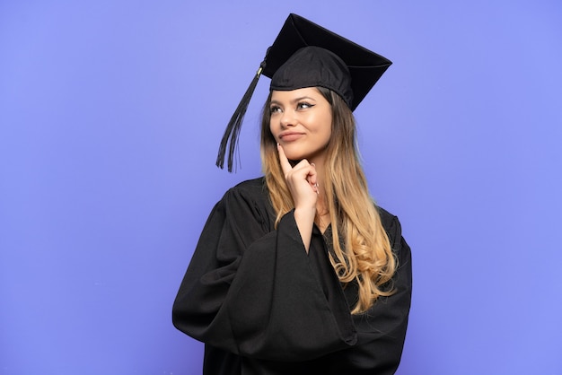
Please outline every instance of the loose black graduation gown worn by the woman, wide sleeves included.
[[392, 374], [408, 324], [410, 249], [379, 208], [398, 257], [396, 292], [351, 315], [357, 286], [329, 263], [330, 227], [307, 254], [294, 212], [274, 228], [265, 179], [228, 190], [198, 240], [173, 304], [175, 327], [205, 343], [205, 375]]

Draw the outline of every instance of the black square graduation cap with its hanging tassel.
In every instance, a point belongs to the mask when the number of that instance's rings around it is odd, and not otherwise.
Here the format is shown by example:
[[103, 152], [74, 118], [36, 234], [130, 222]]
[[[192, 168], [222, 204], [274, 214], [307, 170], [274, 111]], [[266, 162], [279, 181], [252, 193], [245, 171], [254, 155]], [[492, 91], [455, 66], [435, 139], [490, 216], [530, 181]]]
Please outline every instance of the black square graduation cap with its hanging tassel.
[[226, 126], [216, 165], [224, 168], [228, 145], [228, 171], [233, 170], [233, 153], [242, 119], [261, 74], [271, 78], [270, 90], [325, 87], [337, 92], [355, 110], [391, 64], [387, 58], [349, 39], [299, 15], [289, 14]]

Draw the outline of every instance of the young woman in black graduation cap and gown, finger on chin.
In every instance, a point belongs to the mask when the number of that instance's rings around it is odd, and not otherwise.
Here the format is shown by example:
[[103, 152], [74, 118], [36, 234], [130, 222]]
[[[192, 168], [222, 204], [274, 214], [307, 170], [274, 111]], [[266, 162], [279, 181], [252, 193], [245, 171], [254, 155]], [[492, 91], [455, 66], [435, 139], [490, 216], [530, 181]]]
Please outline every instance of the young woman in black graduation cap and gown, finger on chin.
[[[295, 39], [322, 42], [286, 48]], [[173, 306], [174, 325], [206, 344], [204, 374], [398, 368], [410, 250], [398, 219], [368, 192], [352, 113], [390, 62], [367, 51], [386, 65], [366, 90], [357, 88], [341, 57], [350, 46], [364, 51], [291, 14], [262, 63], [272, 78], [261, 125], [264, 177], [215, 205]]]

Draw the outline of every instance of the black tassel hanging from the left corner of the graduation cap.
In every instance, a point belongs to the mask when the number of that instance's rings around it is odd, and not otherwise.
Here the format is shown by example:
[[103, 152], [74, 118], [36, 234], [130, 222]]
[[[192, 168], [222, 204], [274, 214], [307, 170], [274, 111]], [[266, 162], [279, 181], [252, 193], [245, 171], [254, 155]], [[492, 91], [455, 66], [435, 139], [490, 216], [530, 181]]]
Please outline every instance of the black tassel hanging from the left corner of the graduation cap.
[[216, 156], [216, 166], [220, 169], [224, 168], [224, 155], [226, 153], [226, 144], [228, 144], [228, 171], [233, 171], [234, 152], [236, 151], [236, 145], [238, 141], [238, 135], [240, 134], [242, 120], [244, 119], [244, 115], [246, 114], [246, 109], [248, 109], [248, 104], [250, 104], [251, 95], [253, 94], [254, 90], [256, 90], [259, 75], [261, 75], [261, 71], [265, 67], [265, 63], [266, 62], [264, 60], [259, 65], [258, 72], [256, 72], [254, 79], [251, 80], [248, 90], [246, 90], [244, 96], [242, 96], [240, 104], [238, 104], [238, 107], [234, 111], [233, 117], [230, 119], [228, 125], [226, 126], [226, 130], [224, 130], [223, 139], [221, 140], [221, 145], [218, 149], [218, 155]]

